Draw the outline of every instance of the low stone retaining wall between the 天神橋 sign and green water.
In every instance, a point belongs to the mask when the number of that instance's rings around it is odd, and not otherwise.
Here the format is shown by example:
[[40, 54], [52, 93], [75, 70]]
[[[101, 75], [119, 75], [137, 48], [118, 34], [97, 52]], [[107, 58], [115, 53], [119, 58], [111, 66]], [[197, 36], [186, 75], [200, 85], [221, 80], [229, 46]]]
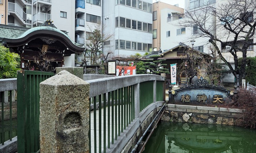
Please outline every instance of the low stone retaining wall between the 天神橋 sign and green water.
[[168, 104], [162, 121], [242, 126], [242, 109]]

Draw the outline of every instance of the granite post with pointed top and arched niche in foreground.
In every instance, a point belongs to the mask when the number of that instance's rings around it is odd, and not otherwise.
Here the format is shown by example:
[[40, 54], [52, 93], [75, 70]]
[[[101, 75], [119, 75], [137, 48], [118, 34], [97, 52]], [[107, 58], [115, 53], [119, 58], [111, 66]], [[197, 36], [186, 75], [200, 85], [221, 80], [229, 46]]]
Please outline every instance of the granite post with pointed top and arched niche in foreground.
[[40, 83], [40, 152], [89, 152], [89, 83], [68, 71]]

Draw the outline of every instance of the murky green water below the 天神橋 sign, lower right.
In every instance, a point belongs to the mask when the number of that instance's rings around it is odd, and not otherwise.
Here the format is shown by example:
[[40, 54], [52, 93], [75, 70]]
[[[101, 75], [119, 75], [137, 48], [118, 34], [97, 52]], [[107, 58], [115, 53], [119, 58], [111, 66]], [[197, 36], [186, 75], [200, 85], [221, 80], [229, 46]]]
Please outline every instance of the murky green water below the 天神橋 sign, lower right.
[[143, 153], [256, 153], [256, 130], [160, 122]]

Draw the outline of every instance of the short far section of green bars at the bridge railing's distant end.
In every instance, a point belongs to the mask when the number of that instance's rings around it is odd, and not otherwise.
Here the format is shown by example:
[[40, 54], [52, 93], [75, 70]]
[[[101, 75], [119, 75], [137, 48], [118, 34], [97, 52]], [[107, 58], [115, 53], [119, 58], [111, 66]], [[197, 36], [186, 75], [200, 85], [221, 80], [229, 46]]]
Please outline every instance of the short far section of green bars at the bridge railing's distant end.
[[154, 81], [140, 83], [140, 112], [154, 102]]

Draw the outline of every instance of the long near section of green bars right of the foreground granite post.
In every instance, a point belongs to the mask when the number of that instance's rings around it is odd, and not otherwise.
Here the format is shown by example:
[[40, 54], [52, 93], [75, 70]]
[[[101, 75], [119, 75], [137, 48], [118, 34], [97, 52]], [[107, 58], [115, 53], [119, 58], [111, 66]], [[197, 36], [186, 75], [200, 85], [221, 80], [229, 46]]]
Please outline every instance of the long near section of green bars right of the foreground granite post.
[[[93, 111], [91, 111], [93, 117], [90, 116], [90, 126], [93, 126], [93, 128], [90, 127], [93, 130], [89, 133], [90, 152], [106, 153], [106, 148], [114, 144], [117, 137], [135, 118], [134, 86], [92, 97], [90, 104], [93, 105]], [[94, 136], [93, 141], [91, 136]]]

